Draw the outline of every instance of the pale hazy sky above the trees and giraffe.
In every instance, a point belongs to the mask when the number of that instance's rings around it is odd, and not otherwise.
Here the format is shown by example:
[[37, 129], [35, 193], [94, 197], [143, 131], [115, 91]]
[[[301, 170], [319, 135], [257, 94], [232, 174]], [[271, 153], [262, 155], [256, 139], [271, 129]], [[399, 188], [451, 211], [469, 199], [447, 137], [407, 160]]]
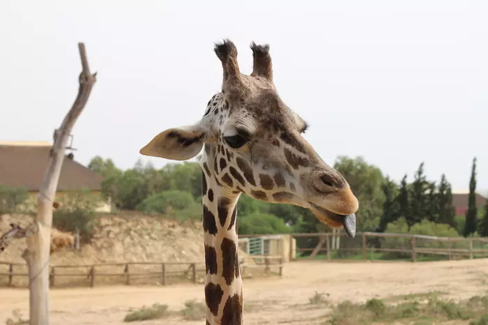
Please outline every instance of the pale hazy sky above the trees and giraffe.
[[220, 90], [215, 42], [268, 43], [285, 103], [323, 160], [363, 156], [399, 181], [425, 162], [488, 191], [488, 1], [0, 1], [0, 141], [52, 141], [77, 94], [84, 42], [98, 81], [73, 129], [75, 160], [121, 168]]

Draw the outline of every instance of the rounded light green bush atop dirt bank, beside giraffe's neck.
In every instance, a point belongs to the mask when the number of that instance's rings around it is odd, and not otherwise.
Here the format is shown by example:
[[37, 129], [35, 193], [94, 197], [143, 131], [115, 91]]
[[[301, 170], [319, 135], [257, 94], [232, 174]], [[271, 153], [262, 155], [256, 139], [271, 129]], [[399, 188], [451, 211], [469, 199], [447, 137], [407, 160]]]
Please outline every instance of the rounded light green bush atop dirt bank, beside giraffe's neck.
[[144, 199], [137, 204], [137, 210], [145, 213], [171, 214], [171, 211], [181, 211], [193, 203], [195, 200], [190, 192], [167, 190]]

